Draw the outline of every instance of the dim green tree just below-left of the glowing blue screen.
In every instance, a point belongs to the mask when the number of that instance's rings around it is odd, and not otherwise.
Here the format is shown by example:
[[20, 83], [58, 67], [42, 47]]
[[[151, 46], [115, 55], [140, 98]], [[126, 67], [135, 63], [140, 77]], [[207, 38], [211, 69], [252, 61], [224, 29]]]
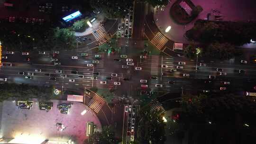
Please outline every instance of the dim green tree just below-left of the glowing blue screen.
[[74, 32], [68, 28], [56, 27], [53, 29], [55, 47], [59, 49], [72, 49], [75, 47], [75, 36]]

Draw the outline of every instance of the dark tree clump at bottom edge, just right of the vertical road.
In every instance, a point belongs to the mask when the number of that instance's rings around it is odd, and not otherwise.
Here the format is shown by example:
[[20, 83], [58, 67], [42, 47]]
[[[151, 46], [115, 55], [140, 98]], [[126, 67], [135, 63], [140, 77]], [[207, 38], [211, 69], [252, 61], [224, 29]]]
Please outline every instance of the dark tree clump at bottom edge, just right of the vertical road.
[[146, 106], [141, 109], [138, 119], [137, 140], [139, 144], [164, 144], [165, 123], [160, 112], [152, 112], [149, 106]]

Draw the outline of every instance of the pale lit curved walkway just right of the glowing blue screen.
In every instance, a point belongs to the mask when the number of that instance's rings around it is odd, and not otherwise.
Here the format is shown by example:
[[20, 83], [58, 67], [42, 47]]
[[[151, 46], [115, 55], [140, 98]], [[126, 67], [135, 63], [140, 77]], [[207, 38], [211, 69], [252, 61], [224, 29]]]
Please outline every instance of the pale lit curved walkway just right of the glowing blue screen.
[[93, 31], [96, 31], [101, 27], [101, 22], [103, 21], [104, 18], [105, 18], [105, 15], [104, 15], [104, 13], [101, 12], [100, 14], [96, 15], [96, 20], [91, 23], [92, 27], [86, 28], [86, 30], [82, 33], [75, 32], [74, 35], [75, 36], [90, 35]]

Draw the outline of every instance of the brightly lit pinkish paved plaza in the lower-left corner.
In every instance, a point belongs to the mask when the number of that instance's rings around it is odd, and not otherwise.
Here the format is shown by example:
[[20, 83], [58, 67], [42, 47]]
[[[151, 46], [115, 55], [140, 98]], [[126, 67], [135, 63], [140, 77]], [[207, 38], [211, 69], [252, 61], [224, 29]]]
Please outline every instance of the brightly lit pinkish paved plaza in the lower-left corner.
[[[40, 110], [37, 99], [33, 99], [33, 108], [18, 109], [15, 102], [4, 101], [0, 109], [1, 130], [0, 136], [15, 138], [12, 143], [37, 144], [48, 139], [51, 141], [68, 142], [72, 140], [75, 144], [82, 144], [86, 136], [86, 123], [93, 122], [97, 130], [101, 131], [101, 123], [98, 117], [85, 105], [72, 102], [68, 114], [61, 114], [57, 108], [58, 104], [69, 101], [52, 100], [53, 108], [46, 112]], [[81, 115], [83, 110], [87, 110]], [[65, 126], [63, 131], [57, 129], [57, 123]], [[40, 143], [39, 143], [40, 144]]]

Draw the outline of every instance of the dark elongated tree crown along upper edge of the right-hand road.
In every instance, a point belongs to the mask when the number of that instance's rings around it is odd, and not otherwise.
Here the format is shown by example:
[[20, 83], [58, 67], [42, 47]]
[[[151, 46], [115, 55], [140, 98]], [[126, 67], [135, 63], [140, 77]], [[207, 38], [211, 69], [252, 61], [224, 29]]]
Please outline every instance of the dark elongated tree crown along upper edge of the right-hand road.
[[240, 51], [235, 49], [234, 45], [229, 43], [212, 43], [205, 48], [204, 56], [210, 58], [217, 58], [221, 60], [228, 60], [234, 56], [240, 54]]

